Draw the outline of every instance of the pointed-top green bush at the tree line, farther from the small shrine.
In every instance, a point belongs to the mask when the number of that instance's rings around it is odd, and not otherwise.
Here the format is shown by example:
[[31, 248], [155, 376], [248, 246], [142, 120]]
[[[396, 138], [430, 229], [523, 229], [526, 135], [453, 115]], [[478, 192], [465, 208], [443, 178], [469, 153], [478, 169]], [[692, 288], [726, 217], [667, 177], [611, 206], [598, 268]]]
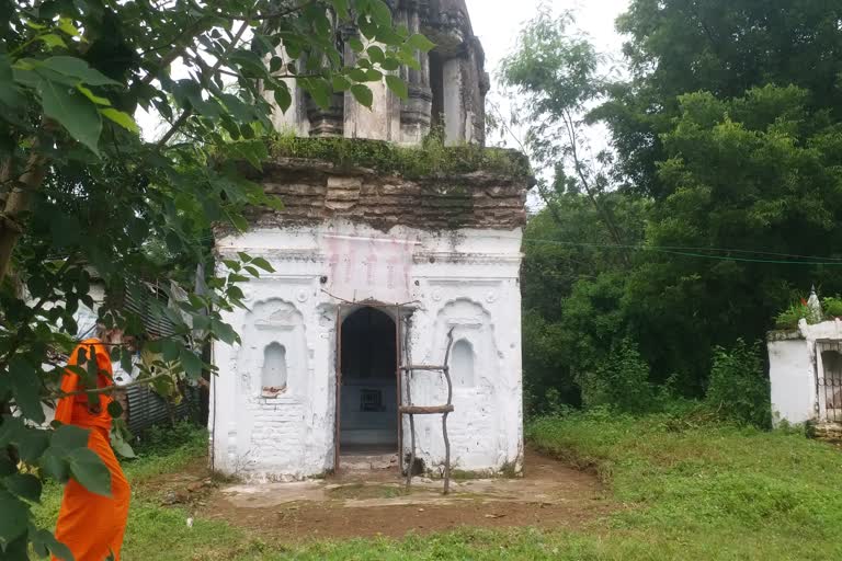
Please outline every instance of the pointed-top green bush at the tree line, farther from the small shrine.
[[607, 407], [627, 413], [644, 413], [656, 403], [649, 365], [628, 337], [613, 348], [594, 371], [579, 376], [579, 385], [587, 408]]

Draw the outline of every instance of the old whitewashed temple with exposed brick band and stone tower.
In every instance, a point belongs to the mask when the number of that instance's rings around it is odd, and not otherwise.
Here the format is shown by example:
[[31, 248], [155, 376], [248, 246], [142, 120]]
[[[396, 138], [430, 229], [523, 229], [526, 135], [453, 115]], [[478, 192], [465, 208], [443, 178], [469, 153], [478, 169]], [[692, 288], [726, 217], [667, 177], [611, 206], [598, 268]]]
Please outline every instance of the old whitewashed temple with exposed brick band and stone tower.
[[[413, 456], [413, 470], [441, 473], [442, 415], [410, 422], [406, 412], [442, 412], [448, 393], [454, 469], [522, 466], [528, 169], [520, 154], [481, 148], [488, 75], [464, 1], [391, 4], [396, 21], [436, 44], [419, 54], [420, 70], [400, 70], [407, 100], [373, 83], [372, 111], [348, 93], [321, 110], [296, 90], [275, 117], [296, 146], [334, 139], [329, 147], [364, 158], [280, 151], [253, 179], [284, 209], [255, 209], [247, 232], [217, 234], [220, 263], [246, 252], [274, 268], [243, 285], [247, 309], [226, 313], [242, 344], [213, 348], [212, 456], [224, 472], [261, 481], [361, 465], [405, 471]], [[443, 131], [441, 160], [422, 153], [431, 127]], [[429, 169], [372, 156], [408, 150]], [[459, 158], [467, 163], [445, 164]], [[445, 357], [451, 391], [441, 370], [401, 368]]]

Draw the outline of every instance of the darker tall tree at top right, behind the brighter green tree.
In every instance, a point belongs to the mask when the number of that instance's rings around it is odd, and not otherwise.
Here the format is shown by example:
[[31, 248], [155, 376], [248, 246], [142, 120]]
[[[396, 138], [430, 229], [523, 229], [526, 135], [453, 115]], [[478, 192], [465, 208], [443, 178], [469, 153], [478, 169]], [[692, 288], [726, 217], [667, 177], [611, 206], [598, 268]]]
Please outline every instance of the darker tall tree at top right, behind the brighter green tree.
[[633, 0], [617, 20], [630, 79], [596, 112], [613, 133], [617, 178], [655, 196], [669, 188], [656, 162], [679, 95], [737, 98], [798, 85], [808, 107], [842, 117], [842, 7], [834, 0]]

